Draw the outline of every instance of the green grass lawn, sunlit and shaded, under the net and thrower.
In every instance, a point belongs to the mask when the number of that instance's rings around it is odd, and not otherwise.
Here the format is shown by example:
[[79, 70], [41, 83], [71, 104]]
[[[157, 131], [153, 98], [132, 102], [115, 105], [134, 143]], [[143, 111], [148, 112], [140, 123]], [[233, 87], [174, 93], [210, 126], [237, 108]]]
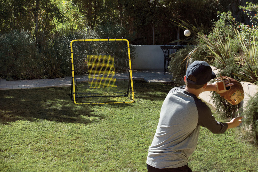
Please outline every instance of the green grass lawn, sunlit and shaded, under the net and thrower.
[[[70, 87], [1, 90], [0, 171], [146, 171], [160, 108], [173, 87], [135, 81], [135, 103], [106, 105], [75, 105]], [[225, 134], [201, 127], [188, 165], [258, 171], [257, 160], [257, 147], [239, 127]]]

